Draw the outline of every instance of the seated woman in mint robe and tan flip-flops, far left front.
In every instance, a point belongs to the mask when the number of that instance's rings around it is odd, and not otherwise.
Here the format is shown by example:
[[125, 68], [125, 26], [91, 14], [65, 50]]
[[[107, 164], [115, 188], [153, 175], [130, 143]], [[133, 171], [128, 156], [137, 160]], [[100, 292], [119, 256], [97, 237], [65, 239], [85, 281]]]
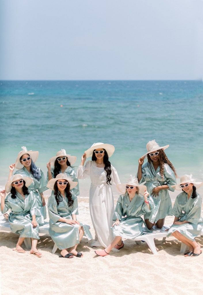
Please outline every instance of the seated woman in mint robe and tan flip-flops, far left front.
[[[39, 240], [39, 225], [41, 223], [41, 213], [37, 200], [32, 191], [28, 191], [28, 186], [32, 179], [15, 174], [10, 181], [6, 183], [5, 190], [1, 191], [1, 211], [6, 212], [11, 209], [9, 222], [12, 232], [20, 234], [16, 248], [13, 250], [19, 253], [25, 253], [22, 243], [25, 238], [32, 239], [31, 254], [41, 257], [42, 253], [37, 250], [37, 240]], [[6, 193], [9, 193], [6, 196]], [[6, 196], [6, 198], [5, 198]]]

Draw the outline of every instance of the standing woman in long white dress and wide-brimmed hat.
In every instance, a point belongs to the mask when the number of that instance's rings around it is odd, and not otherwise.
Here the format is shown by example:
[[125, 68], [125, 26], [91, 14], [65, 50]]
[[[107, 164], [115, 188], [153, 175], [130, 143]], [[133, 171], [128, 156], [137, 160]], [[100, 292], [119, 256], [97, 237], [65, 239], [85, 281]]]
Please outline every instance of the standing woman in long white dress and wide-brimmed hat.
[[[113, 240], [113, 233], [110, 228], [114, 214], [111, 184], [121, 183], [117, 171], [108, 160], [113, 155], [114, 150], [113, 145], [102, 142], [94, 143], [82, 155], [81, 164], [77, 169], [77, 178], [84, 179], [90, 176], [91, 179], [89, 201], [90, 216], [95, 230], [95, 240], [91, 244], [93, 248], [106, 248]], [[88, 157], [92, 157], [92, 160], [84, 166]]]

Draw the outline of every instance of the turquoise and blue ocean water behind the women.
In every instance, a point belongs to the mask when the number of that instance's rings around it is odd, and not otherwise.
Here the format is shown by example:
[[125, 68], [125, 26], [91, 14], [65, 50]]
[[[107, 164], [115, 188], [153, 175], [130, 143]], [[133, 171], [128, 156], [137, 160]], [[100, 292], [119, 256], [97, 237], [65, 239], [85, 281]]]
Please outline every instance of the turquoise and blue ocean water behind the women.
[[[39, 150], [46, 174], [58, 150], [77, 156], [78, 166], [94, 142], [115, 146], [110, 162], [125, 182], [153, 139], [170, 145], [179, 176], [203, 179], [202, 81], [0, 81], [0, 91], [1, 186], [23, 145]], [[89, 184], [80, 181], [81, 195]]]

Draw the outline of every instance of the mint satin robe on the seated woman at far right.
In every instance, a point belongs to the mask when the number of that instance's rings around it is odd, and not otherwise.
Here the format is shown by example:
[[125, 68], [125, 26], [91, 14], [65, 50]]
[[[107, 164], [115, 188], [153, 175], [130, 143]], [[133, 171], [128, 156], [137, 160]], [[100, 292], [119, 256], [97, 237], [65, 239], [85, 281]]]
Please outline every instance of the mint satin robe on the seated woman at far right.
[[[196, 192], [197, 193], [197, 192]], [[188, 199], [188, 194], [185, 192], [180, 193], [176, 197], [176, 201], [172, 210], [175, 217], [179, 217], [179, 221], [188, 221], [181, 225], [172, 224], [167, 232], [169, 237], [176, 230], [189, 240], [194, 241], [194, 238], [199, 236], [203, 227], [203, 219], [201, 217], [202, 198], [197, 193], [197, 197]]]

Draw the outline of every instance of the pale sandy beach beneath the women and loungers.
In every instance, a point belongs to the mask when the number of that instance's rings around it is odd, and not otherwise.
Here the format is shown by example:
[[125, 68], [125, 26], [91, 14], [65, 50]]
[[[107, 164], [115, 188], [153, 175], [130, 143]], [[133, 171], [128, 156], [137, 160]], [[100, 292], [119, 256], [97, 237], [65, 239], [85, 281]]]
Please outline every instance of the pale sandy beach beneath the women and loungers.
[[[48, 197], [46, 197], [47, 201]], [[94, 236], [89, 200], [78, 197], [78, 220], [89, 224]], [[171, 224], [174, 217], [166, 218]], [[120, 252], [98, 257], [84, 237], [77, 250], [83, 258], [59, 258], [60, 251], [51, 254], [53, 241], [42, 235], [38, 248], [41, 258], [12, 251], [18, 235], [0, 232], [1, 294], [202, 294], [203, 255], [184, 257], [181, 243], [174, 237], [155, 240], [158, 255], [152, 254], [146, 243], [136, 245], [124, 240]], [[203, 238], [197, 237], [203, 247]]]

